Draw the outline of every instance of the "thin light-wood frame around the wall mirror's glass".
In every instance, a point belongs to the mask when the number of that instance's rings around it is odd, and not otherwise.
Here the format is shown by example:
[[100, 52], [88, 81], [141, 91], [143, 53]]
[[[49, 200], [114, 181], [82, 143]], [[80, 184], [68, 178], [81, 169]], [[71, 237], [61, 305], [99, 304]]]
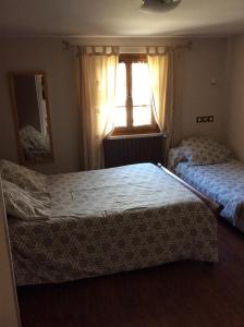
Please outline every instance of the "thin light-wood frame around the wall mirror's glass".
[[[12, 113], [14, 121], [14, 130], [17, 145], [17, 155], [20, 164], [24, 165], [34, 165], [34, 164], [46, 164], [54, 161], [54, 153], [53, 153], [53, 142], [52, 142], [52, 131], [51, 131], [51, 118], [50, 118], [50, 107], [49, 107], [49, 97], [48, 97], [48, 87], [47, 87], [47, 75], [42, 70], [34, 70], [34, 71], [11, 71], [8, 73], [9, 75], [9, 85], [10, 85], [10, 96], [12, 102]], [[50, 158], [42, 158], [41, 160], [26, 160], [24, 157], [24, 150], [21, 144], [20, 136], [20, 128], [19, 128], [19, 114], [17, 114], [17, 104], [16, 96], [14, 89], [14, 76], [21, 75], [44, 75], [44, 87], [45, 87], [45, 96], [46, 96], [46, 109], [47, 109], [47, 122], [48, 122], [48, 132], [49, 132], [49, 142], [50, 142]]]

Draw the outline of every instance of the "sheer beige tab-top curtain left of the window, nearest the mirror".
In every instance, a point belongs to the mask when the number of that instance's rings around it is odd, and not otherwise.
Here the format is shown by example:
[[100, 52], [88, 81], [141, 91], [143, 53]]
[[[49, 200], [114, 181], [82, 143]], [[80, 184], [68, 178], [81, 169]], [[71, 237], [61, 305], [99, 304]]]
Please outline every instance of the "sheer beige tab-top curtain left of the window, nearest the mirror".
[[81, 72], [81, 161], [85, 170], [103, 167], [102, 141], [113, 129], [118, 48], [84, 47]]

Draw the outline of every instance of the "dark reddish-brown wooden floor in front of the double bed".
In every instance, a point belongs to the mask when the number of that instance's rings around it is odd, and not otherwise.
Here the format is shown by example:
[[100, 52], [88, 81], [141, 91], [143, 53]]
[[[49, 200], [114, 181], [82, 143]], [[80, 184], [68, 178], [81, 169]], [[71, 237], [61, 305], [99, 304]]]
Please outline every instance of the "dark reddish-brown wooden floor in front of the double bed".
[[23, 327], [243, 327], [244, 234], [219, 223], [218, 264], [181, 262], [19, 288]]

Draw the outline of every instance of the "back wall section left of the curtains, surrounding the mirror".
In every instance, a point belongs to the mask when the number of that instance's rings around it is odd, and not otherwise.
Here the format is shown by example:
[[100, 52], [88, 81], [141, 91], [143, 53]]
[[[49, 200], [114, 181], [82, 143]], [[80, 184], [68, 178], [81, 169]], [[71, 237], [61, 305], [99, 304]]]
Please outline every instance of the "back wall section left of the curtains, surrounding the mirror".
[[80, 169], [78, 111], [74, 56], [60, 39], [5, 38], [0, 40], [0, 158], [17, 161], [9, 71], [44, 70], [51, 112], [54, 162], [35, 166], [47, 173]]

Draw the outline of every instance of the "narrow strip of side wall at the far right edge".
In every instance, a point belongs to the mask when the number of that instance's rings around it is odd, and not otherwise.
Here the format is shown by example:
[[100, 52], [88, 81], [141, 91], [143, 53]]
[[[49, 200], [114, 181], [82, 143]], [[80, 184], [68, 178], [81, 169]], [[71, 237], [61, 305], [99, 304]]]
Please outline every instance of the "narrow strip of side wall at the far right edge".
[[228, 143], [244, 161], [244, 35], [228, 41]]

